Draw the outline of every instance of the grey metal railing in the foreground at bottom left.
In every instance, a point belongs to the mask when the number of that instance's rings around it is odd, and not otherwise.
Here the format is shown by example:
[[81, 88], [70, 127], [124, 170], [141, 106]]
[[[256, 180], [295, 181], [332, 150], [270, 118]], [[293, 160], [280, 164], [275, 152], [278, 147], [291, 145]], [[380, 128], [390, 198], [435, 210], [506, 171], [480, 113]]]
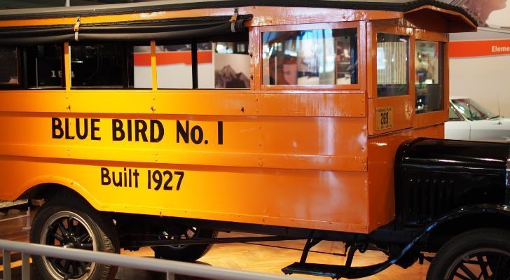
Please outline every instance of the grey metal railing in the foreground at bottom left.
[[174, 260], [133, 257], [130, 255], [85, 251], [75, 248], [29, 244], [2, 239], [0, 239], [0, 249], [3, 251], [4, 255], [4, 280], [11, 280], [11, 252], [22, 254], [22, 280], [30, 279], [30, 255], [46, 255], [47, 257], [53, 258], [97, 262], [104, 265], [163, 272], [166, 274], [167, 280], [174, 280], [176, 274], [221, 280], [307, 280], [294, 276], [247, 272], [221, 267], [209, 267], [195, 263], [177, 262]]

